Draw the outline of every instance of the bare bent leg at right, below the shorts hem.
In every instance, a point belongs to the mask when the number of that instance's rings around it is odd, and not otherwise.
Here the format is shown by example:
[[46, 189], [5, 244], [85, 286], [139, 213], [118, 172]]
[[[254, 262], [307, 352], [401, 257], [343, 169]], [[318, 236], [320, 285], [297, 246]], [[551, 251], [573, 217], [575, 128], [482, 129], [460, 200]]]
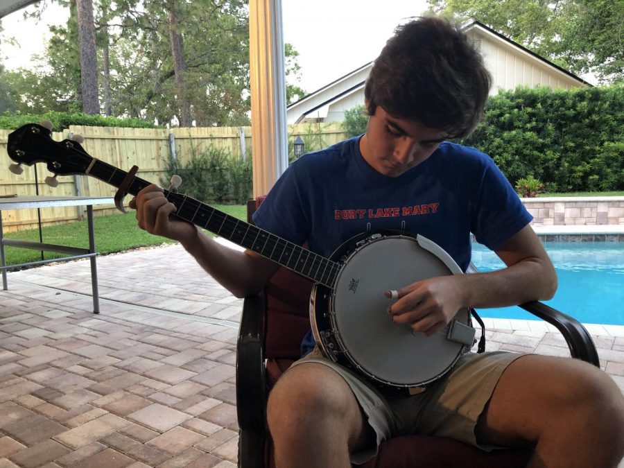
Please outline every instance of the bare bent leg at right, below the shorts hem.
[[597, 367], [524, 356], [501, 375], [476, 435], [490, 444], [535, 444], [529, 467], [616, 467], [624, 455], [624, 397]]

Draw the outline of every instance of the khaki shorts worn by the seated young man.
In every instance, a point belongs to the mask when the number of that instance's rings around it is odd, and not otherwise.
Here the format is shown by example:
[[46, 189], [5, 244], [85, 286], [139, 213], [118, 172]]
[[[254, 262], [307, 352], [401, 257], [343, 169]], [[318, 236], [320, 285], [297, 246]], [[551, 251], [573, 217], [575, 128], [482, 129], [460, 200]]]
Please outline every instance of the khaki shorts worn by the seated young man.
[[318, 348], [293, 366], [320, 363], [331, 367], [345, 379], [377, 439], [375, 447], [352, 454], [352, 463], [359, 465], [375, 456], [383, 440], [398, 435], [435, 435], [450, 437], [486, 451], [496, 448], [479, 444], [474, 429], [501, 374], [521, 356], [525, 354], [465, 354], [442, 379], [427, 385], [424, 392], [400, 397], [397, 392], [384, 392], [352, 370], [325, 358]]

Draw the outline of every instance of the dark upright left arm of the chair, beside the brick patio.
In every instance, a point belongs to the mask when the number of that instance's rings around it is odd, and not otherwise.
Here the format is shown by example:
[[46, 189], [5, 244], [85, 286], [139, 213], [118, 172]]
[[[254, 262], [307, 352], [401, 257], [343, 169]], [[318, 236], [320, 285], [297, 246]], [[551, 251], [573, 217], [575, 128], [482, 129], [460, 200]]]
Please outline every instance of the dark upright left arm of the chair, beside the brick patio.
[[236, 413], [239, 421], [239, 466], [262, 467], [266, 438], [264, 366], [265, 295], [245, 297], [236, 343]]

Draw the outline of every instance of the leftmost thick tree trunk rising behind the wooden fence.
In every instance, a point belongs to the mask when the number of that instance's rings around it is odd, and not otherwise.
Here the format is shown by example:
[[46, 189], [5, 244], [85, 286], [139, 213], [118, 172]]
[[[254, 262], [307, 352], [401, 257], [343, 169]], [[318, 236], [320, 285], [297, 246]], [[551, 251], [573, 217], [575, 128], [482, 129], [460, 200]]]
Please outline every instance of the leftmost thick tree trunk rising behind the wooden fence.
[[100, 102], [98, 99], [98, 58], [95, 45], [93, 1], [76, 0], [76, 9], [78, 12], [83, 112], [96, 115], [100, 113]]

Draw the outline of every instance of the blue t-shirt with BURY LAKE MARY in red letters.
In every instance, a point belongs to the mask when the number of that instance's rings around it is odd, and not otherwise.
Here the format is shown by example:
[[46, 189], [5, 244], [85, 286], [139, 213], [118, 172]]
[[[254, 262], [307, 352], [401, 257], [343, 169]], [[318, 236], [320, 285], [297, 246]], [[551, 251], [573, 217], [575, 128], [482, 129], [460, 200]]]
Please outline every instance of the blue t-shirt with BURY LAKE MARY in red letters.
[[[492, 158], [442, 142], [424, 162], [399, 177], [375, 171], [355, 137], [297, 159], [254, 214], [258, 227], [329, 257], [367, 231], [421, 234], [466, 270], [470, 233], [496, 250], [532, 217]], [[313, 347], [311, 333], [302, 352]]]

